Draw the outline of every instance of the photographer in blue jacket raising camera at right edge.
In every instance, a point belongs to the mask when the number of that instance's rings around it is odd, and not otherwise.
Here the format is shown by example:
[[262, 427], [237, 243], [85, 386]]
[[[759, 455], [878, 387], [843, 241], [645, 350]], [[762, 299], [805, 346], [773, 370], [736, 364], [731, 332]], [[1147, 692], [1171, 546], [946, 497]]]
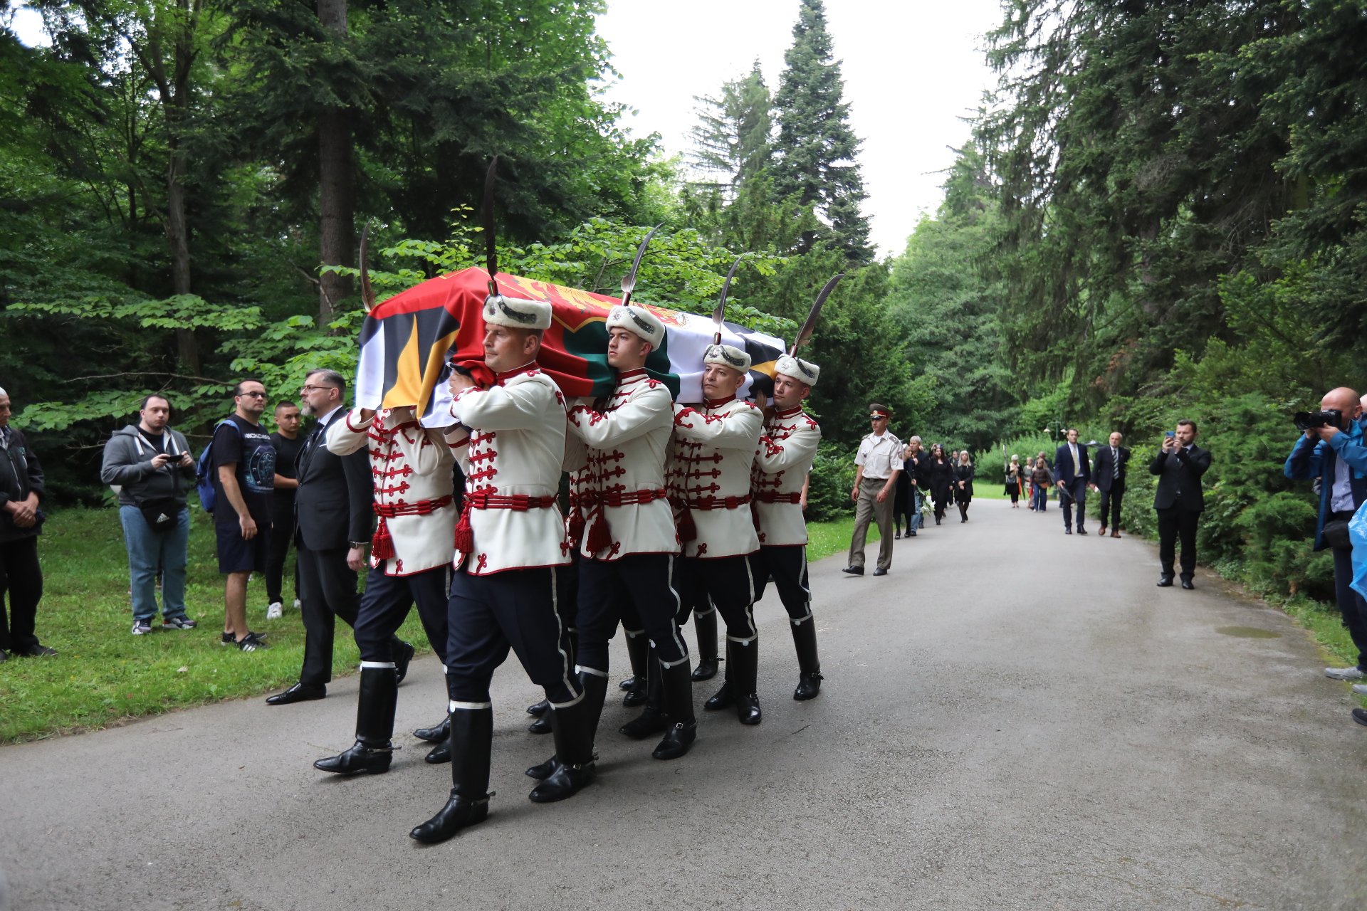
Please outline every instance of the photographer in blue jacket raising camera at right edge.
[[1286, 456], [1286, 477], [1292, 481], [1321, 478], [1319, 522], [1315, 550], [1334, 550], [1334, 595], [1344, 626], [1357, 647], [1357, 665], [1325, 668], [1334, 680], [1362, 680], [1367, 676], [1367, 601], [1352, 590], [1353, 549], [1348, 520], [1367, 499], [1367, 447], [1363, 445], [1363, 415], [1357, 393], [1340, 387], [1325, 393], [1319, 411], [1297, 411], [1293, 421], [1304, 434]]

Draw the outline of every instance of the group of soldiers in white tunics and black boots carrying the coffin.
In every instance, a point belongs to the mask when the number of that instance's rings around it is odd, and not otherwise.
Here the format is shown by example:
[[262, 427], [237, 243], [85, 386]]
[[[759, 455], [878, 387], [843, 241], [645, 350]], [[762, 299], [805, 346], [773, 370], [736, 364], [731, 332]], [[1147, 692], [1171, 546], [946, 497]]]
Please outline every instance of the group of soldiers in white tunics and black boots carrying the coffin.
[[[354, 624], [355, 743], [316, 766], [388, 770], [396, 658], [406, 671], [407, 657], [398, 654], [394, 632], [417, 604], [448, 703], [439, 724], [414, 733], [435, 744], [428, 762], [451, 763], [446, 804], [410, 832], [424, 843], [488, 813], [489, 686], [510, 649], [544, 690], [545, 701], [528, 712], [555, 744], [526, 770], [539, 803], [569, 798], [595, 777], [618, 626], [633, 672], [625, 703], [642, 706], [621, 733], [659, 736], [656, 759], [685, 755], [697, 738], [693, 684], [723, 662], [718, 613], [726, 627], [723, 683], [704, 707], [733, 710], [741, 724], [761, 721], [753, 604], [770, 580], [797, 650], [793, 698], [816, 697], [822, 683], [801, 505], [820, 440], [802, 410], [816, 365], [793, 356], [794, 347], [775, 365], [772, 406], [756, 404], [737, 397], [750, 356], [718, 340], [704, 356], [701, 400], [675, 403], [645, 370], [664, 324], [645, 307], [618, 305], [607, 317], [615, 389], [566, 400], [537, 365], [551, 305], [493, 294], [483, 317], [484, 365], [451, 374], [447, 426], [424, 426], [411, 407], [339, 408], [319, 430], [336, 456], [368, 452], [380, 519]], [[697, 667], [682, 635], [690, 615]]]

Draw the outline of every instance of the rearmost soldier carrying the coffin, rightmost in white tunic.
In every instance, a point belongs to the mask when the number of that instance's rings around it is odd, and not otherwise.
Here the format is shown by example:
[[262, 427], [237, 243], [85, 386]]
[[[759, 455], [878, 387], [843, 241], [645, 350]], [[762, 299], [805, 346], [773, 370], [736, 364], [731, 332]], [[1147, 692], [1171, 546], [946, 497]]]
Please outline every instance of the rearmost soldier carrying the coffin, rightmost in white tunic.
[[790, 355], [778, 359], [774, 410], [764, 422], [750, 482], [760, 523], [760, 595], [772, 578], [797, 647], [794, 699], [811, 699], [822, 688], [812, 589], [807, 580], [807, 520], [802, 518], [802, 485], [822, 441], [822, 428], [802, 410], [802, 399], [811, 395], [817, 376], [820, 369], [815, 363]]

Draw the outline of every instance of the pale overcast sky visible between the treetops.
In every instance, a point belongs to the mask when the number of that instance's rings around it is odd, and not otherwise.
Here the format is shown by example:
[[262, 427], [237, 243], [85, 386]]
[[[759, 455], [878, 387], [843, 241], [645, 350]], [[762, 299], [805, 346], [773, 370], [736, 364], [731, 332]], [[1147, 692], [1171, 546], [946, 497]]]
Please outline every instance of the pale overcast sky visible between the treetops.
[[[634, 115], [637, 135], [659, 132], [667, 153], [688, 149], [693, 96], [716, 94], [756, 59], [778, 87], [783, 51], [793, 42], [798, 0], [608, 0], [599, 31], [621, 72], [607, 98]], [[969, 116], [992, 75], [983, 34], [1001, 20], [999, 0], [826, 0], [835, 59], [845, 76], [858, 161], [879, 253], [901, 253], [921, 212], [939, 205], [936, 171], [947, 146], [968, 138]], [[14, 29], [42, 44], [41, 20], [18, 10]]]

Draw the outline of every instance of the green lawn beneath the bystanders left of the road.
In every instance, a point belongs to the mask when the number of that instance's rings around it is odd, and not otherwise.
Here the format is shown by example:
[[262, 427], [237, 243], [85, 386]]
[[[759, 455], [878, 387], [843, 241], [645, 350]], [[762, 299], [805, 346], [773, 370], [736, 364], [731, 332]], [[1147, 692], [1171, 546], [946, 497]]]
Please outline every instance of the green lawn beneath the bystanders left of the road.
[[[265, 619], [265, 582], [247, 589], [247, 619], [267, 632], [267, 651], [219, 645], [223, 631], [223, 576], [213, 526], [191, 509], [186, 608], [195, 630], [130, 634], [128, 567], [119, 514], [66, 509], [53, 515], [38, 541], [44, 595], [38, 638], [55, 658], [10, 658], [0, 664], [0, 742], [101, 728], [174, 707], [258, 695], [298, 679], [303, 660], [299, 612]], [[290, 564], [293, 565], [293, 556]], [[284, 590], [294, 590], [286, 567]], [[293, 601], [287, 595], [287, 602]], [[399, 635], [427, 645], [417, 612]], [[360, 656], [346, 624], [338, 624], [334, 673], [351, 672]]]

